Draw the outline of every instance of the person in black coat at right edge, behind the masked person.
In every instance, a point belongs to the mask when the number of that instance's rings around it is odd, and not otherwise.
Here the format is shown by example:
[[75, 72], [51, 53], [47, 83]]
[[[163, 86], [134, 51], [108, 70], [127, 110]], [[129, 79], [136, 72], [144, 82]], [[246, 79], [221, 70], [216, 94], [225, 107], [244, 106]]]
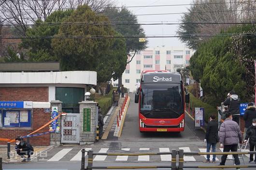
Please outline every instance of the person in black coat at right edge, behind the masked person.
[[244, 131], [243, 131], [243, 138], [245, 139], [247, 129], [252, 126], [253, 119], [256, 118], [256, 107], [253, 105], [252, 102], [248, 103], [248, 107], [246, 108], [243, 119], [245, 121]]

